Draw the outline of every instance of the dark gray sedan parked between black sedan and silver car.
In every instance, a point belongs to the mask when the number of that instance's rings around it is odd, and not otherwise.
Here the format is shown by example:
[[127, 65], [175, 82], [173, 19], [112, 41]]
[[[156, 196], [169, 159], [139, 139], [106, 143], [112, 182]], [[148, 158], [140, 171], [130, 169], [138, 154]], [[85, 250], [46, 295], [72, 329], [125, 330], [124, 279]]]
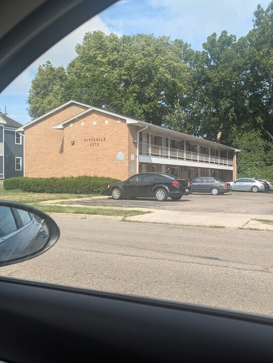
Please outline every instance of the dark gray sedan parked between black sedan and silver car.
[[215, 177], [197, 177], [189, 183], [192, 193], [211, 193], [212, 195], [219, 195], [231, 192], [229, 183], [225, 183]]

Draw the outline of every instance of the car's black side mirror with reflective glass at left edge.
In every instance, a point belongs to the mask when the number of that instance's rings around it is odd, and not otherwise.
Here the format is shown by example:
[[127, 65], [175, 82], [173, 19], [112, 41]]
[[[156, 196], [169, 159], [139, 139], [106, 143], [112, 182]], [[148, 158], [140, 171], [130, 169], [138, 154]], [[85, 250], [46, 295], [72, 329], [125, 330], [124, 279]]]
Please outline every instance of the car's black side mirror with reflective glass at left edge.
[[32, 259], [58, 240], [55, 221], [39, 209], [0, 200], [0, 266]]

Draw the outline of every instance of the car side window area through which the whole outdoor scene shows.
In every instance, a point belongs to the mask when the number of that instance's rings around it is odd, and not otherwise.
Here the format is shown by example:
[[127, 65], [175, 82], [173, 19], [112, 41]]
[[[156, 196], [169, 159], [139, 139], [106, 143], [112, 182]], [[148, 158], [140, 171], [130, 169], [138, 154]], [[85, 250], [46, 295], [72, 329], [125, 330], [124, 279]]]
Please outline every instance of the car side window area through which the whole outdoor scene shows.
[[118, 1], [15, 79], [0, 199], [61, 237], [2, 275], [273, 317], [273, 194], [248, 178], [273, 180], [272, 21], [268, 0]]

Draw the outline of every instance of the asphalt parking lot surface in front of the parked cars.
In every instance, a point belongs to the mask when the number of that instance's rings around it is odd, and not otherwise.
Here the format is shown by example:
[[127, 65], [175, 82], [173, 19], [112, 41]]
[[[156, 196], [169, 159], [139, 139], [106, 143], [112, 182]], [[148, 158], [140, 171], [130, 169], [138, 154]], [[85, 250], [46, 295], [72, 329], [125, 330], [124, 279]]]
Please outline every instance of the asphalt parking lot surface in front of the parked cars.
[[[71, 204], [79, 204], [72, 202]], [[81, 201], [80, 204], [141, 207], [165, 209], [169, 211], [209, 212], [209, 213], [235, 213], [235, 214], [273, 214], [273, 193], [231, 192], [224, 195], [213, 196], [206, 193], [193, 193], [182, 197], [179, 201], [170, 198], [165, 202], [157, 202], [150, 198], [131, 200], [123, 198], [113, 200], [111, 197], [91, 201]]]

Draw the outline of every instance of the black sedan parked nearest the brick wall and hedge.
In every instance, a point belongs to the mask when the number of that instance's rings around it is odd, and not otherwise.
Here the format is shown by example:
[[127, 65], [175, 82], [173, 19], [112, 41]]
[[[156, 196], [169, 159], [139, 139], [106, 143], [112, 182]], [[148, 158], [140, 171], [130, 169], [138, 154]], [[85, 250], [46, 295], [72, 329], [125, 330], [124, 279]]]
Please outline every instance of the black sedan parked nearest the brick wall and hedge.
[[168, 197], [178, 201], [183, 195], [190, 193], [187, 180], [157, 172], [132, 175], [124, 181], [109, 184], [106, 191], [106, 195], [113, 199], [147, 197], [155, 198], [159, 202], [164, 202]]

